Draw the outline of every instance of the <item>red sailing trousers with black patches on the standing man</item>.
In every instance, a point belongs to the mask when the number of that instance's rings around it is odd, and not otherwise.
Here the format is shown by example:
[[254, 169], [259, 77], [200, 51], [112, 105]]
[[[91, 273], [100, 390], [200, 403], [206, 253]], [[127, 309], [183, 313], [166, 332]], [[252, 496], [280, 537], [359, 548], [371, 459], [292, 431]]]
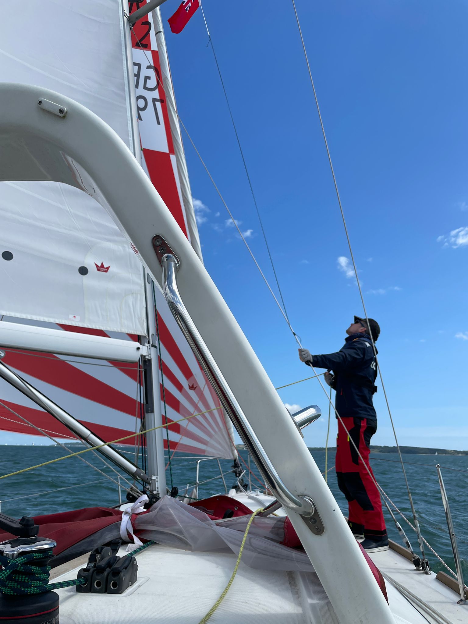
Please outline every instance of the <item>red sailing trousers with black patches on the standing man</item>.
[[[338, 487], [348, 500], [349, 522], [360, 525], [365, 538], [381, 539], [387, 530], [380, 494], [365, 467], [373, 475], [369, 464], [369, 443], [377, 431], [377, 424], [366, 418], [353, 417], [343, 418], [343, 423], [344, 426], [338, 421], [335, 468]], [[351, 440], [358, 447], [365, 466]]]

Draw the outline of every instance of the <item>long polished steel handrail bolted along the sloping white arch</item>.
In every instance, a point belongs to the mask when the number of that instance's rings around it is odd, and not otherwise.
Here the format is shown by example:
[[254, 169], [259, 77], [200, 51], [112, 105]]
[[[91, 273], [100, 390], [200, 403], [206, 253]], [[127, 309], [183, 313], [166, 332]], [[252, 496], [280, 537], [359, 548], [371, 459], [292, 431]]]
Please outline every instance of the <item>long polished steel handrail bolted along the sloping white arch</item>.
[[[193, 352], [197, 356], [203, 371], [205, 371], [208, 379], [210, 379], [210, 382], [213, 384], [213, 388], [220, 399], [223, 409], [226, 410], [245, 444], [246, 449], [253, 457], [263, 479], [265, 479], [268, 488], [271, 490], [271, 494], [273, 494], [283, 507], [298, 511], [304, 516], [313, 514], [313, 505], [302, 496], [295, 496], [292, 494], [281, 480], [280, 475], [276, 472], [275, 467], [266, 454], [265, 449], [261, 446], [260, 440], [256, 436], [255, 431], [253, 431], [250, 422], [248, 422], [240, 404], [220, 371], [218, 364], [210, 353], [195, 323], [193, 323], [187, 308], [185, 308], [177, 287], [177, 258], [170, 253], [166, 253], [162, 257], [161, 264], [164, 295], [170, 311], [177, 321], [178, 326], [182, 329], [183, 335], [187, 338], [188, 344], [190, 344]], [[288, 412], [286, 412], [286, 414], [287, 413]]]

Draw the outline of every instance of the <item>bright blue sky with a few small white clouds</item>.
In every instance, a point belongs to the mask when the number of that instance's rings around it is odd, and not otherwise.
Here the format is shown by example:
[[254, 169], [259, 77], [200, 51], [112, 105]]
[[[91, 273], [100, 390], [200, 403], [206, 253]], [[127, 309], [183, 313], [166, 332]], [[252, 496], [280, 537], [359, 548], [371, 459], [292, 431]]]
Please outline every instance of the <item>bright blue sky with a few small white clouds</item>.
[[[166, 20], [178, 1], [162, 7]], [[467, 6], [454, 0], [296, 0], [399, 442], [468, 449]], [[290, 0], [203, 0], [291, 323], [338, 350], [362, 314]], [[273, 286], [198, 10], [166, 31], [178, 110]], [[192, 146], [205, 265], [275, 386], [309, 376]], [[204, 207], [204, 208], [203, 208]], [[381, 383], [373, 443], [394, 444]], [[325, 412], [316, 381], [280, 391]], [[334, 424], [333, 424], [334, 427]], [[333, 431], [333, 429], [332, 429]], [[333, 444], [331, 437], [331, 444]]]

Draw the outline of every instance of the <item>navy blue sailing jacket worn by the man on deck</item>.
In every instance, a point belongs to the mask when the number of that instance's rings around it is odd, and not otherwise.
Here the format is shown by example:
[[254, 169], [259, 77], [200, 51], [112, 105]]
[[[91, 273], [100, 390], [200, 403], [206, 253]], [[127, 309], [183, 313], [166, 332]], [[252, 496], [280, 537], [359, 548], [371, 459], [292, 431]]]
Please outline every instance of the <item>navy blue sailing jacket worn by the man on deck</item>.
[[371, 339], [367, 334], [348, 336], [336, 353], [313, 355], [314, 368], [333, 371], [333, 389], [336, 390], [335, 407], [344, 417], [368, 418], [376, 421], [377, 414], [372, 396], [376, 391], [376, 358]]

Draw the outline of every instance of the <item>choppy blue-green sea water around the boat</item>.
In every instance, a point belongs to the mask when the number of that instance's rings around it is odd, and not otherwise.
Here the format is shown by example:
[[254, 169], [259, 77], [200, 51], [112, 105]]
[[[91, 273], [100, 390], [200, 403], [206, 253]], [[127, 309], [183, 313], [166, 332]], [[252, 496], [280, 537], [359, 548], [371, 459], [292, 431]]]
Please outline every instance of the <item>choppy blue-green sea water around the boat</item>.
[[[73, 451], [79, 451], [84, 447], [74, 444], [70, 448]], [[132, 447], [122, 447], [119, 451], [124, 452], [129, 459], [135, 459]], [[240, 453], [247, 463], [246, 451]], [[62, 447], [57, 446], [1, 446], [0, 476], [66, 455], [67, 452]], [[325, 469], [324, 451], [314, 451], [313, 456], [319, 469], [323, 471]], [[106, 476], [109, 475], [118, 482], [117, 474], [110, 467], [105, 466], [92, 452], [84, 453], [82, 459], [99, 468], [105, 474], [100, 474], [79, 457], [71, 457], [1, 479], [1, 512], [12, 517], [21, 517], [22, 515], [52, 514], [71, 509], [81, 509], [82, 507], [117, 505], [119, 503], [119, 486]], [[141, 465], [141, 458], [138, 459]], [[167, 458], [166, 479], [168, 486], [177, 485], [180, 493], [187, 492], [188, 495], [192, 495], [198, 459], [200, 458], [190, 456], [190, 454], [176, 453], [171, 457], [169, 464]], [[452, 570], [455, 570], [436, 472], [436, 464], [442, 466], [442, 475], [449, 498], [465, 581], [468, 582], [468, 456], [405, 454], [403, 459], [422, 535]], [[346, 500], [344, 500], [344, 496], [336, 484], [333, 461], [333, 453], [329, 452], [328, 469], [331, 470], [327, 474], [328, 485], [341, 509], [346, 513]], [[224, 479], [227, 489], [230, 489], [235, 482], [235, 477], [230, 472], [232, 462], [222, 459], [220, 465], [222, 472], [226, 473]], [[245, 464], [242, 466], [246, 469], [244, 480], [249, 484], [249, 472]], [[407, 519], [414, 524], [398, 456], [396, 454], [372, 453], [371, 466], [384, 492], [388, 494]], [[251, 462], [250, 468], [249, 487], [252, 489], [264, 488], [260, 474], [253, 462]], [[300, 470], [301, 467], [298, 466], [297, 469]], [[126, 492], [123, 488], [127, 485], [125, 478], [127, 477], [120, 476], [121, 496], [124, 501]], [[225, 491], [216, 460], [211, 459], [200, 463], [199, 480], [202, 483], [198, 488], [198, 498]], [[311, 488], [310, 494], [313, 495], [313, 488]], [[394, 510], [394, 514], [406, 532], [414, 551], [419, 554], [416, 533], [396, 510]], [[389, 536], [401, 544], [394, 522], [386, 509], [384, 509], [384, 515]], [[426, 548], [426, 556], [434, 571], [445, 570], [448, 572], [429, 548]]]

